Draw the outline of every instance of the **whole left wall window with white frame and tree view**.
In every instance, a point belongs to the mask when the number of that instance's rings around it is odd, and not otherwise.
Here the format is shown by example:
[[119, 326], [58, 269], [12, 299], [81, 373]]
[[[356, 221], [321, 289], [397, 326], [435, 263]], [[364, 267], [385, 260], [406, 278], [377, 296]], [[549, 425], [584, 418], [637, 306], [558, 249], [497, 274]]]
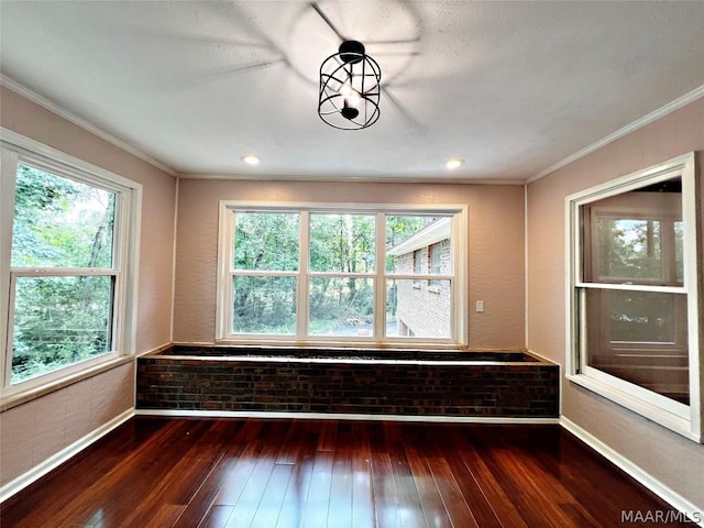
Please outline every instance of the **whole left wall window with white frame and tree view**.
[[18, 143], [2, 145], [4, 395], [132, 348], [139, 186]]

